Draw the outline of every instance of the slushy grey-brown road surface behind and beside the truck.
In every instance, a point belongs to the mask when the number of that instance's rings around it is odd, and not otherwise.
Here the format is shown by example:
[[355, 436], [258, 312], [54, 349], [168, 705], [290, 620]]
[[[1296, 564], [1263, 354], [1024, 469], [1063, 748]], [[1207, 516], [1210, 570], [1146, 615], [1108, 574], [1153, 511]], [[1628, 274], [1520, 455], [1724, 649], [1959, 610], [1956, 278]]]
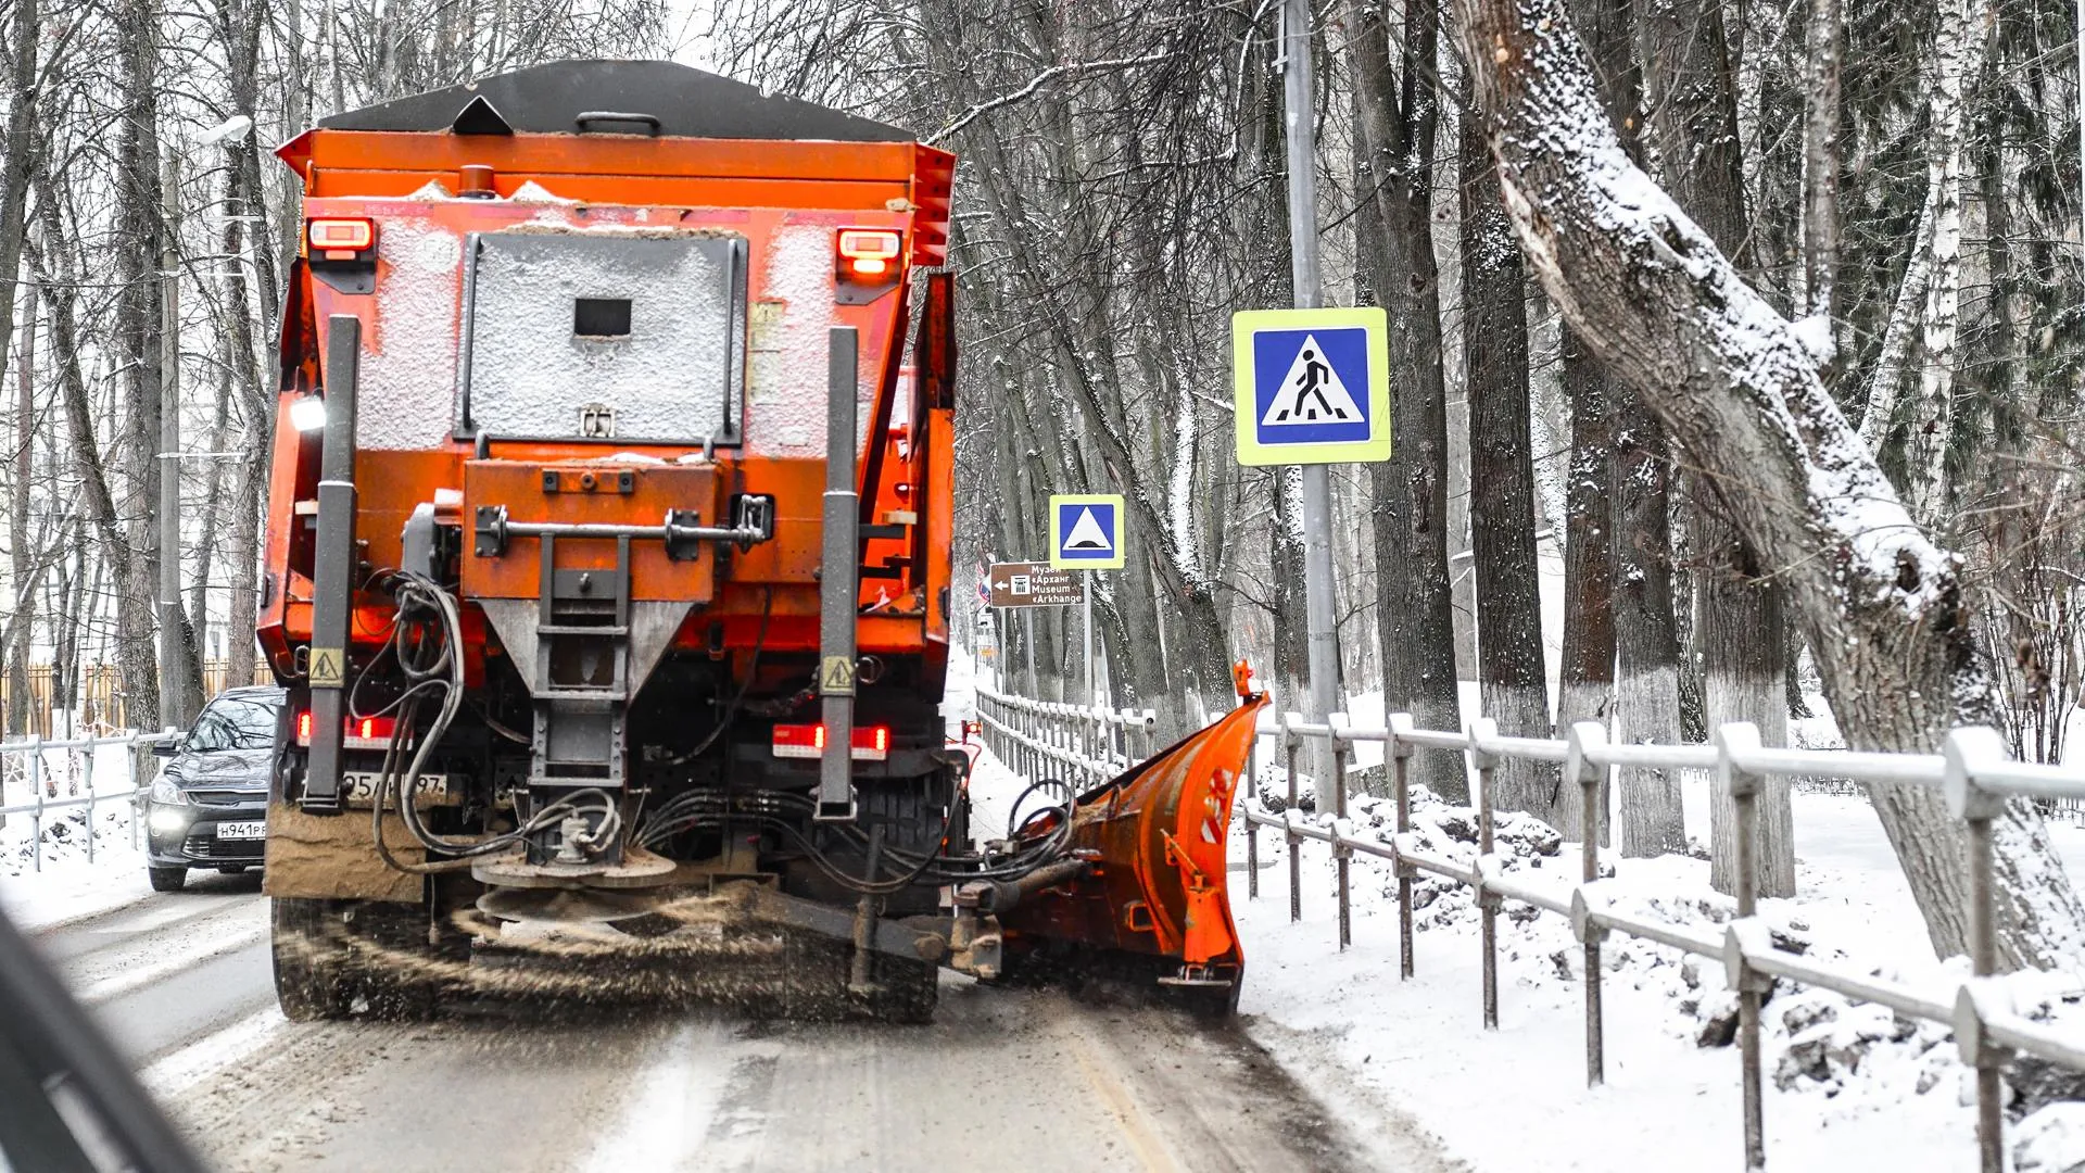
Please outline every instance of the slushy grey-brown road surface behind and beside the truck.
[[932, 1027], [530, 1004], [294, 1025], [259, 877], [202, 872], [40, 941], [227, 1171], [1451, 1169], [1241, 1031], [951, 975]]

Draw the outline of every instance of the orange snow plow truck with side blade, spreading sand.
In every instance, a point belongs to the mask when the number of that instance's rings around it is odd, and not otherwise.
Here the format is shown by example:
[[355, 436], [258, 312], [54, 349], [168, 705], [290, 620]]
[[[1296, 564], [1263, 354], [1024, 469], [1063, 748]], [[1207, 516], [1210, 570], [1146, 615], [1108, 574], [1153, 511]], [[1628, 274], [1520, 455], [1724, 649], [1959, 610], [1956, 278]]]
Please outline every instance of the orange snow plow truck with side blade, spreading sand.
[[292, 1019], [525, 991], [932, 1014], [940, 968], [1222, 1012], [1253, 712], [974, 837], [938, 716], [955, 159], [663, 63], [325, 119], [261, 647]]

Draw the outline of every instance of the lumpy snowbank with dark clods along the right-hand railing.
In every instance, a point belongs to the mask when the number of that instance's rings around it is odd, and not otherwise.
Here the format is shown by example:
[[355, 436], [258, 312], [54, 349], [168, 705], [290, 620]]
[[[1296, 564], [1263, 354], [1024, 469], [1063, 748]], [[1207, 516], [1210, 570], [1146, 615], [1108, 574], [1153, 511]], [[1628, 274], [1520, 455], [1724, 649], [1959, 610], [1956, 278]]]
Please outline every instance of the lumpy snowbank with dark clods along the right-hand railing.
[[[1395, 833], [1389, 799], [1355, 795], [1349, 814], [1351, 835], [1387, 841]], [[1476, 854], [1476, 812], [1424, 789], [1414, 789], [1412, 829], [1428, 854], [1457, 862]], [[1578, 845], [1539, 820], [1503, 818], [1495, 843], [1501, 868], [1524, 872], [1524, 883], [1547, 881], [1564, 891], [1578, 875]], [[1282, 852], [1278, 835], [1264, 835], [1259, 845], [1266, 862]], [[1232, 860], [1243, 858], [1236, 843]], [[1735, 916], [1731, 897], [1710, 887], [1703, 860], [1620, 860], [1601, 852], [1599, 870], [1599, 891], [1630, 914], [1712, 937]], [[1585, 952], [1566, 918], [1505, 902], [1501, 1029], [1487, 1033], [1476, 1023], [1478, 910], [1470, 889], [1428, 875], [1414, 881], [1418, 975], [1401, 983], [1395, 875], [1378, 860], [1355, 858], [1355, 948], [1339, 954], [1328, 872], [1330, 849], [1303, 843], [1305, 920], [1297, 925], [1286, 918], [1284, 866], [1264, 868], [1257, 902], [1234, 885], [1247, 950], [1243, 1010], [1257, 1016], [1255, 1035], [1291, 1064], [1332, 1058], [1424, 1119], [1478, 1169], [1735, 1165], [1737, 1000], [1720, 964], [1620, 933], [1608, 937], [1608, 1085], [1585, 1090]], [[1824, 875], [1822, 889], [1818, 877], [1806, 875], [1797, 900], [1762, 902], [1776, 945], [1952, 1000], [1966, 968], [1960, 958], [1924, 956], [1922, 927], [1906, 923], [1902, 902], [1889, 900], [1889, 877], [1874, 883], [1879, 877], [1843, 868]], [[1902, 877], [1893, 879], [1902, 885]], [[2085, 1031], [2085, 985], [2072, 975], [2010, 981], [2022, 1014]], [[1762, 1025], [1770, 1163], [1908, 1171], [1972, 1163], [1974, 1073], [1945, 1025], [1897, 1019], [1797, 983], [1774, 987]], [[2010, 1138], [2016, 1167], [2085, 1167], [2085, 1112], [2066, 1102], [2085, 1096], [2085, 1079], [2031, 1067], [2010, 1077], [2012, 1117], [2027, 1117]]]

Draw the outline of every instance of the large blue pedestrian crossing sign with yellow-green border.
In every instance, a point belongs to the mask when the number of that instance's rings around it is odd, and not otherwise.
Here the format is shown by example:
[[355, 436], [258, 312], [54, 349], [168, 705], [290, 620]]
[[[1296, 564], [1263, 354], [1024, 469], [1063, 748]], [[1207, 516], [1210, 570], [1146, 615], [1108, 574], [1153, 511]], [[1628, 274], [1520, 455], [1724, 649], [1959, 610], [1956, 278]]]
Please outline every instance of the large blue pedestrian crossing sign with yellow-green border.
[[1247, 309], [1230, 315], [1238, 463], [1391, 459], [1389, 315]]

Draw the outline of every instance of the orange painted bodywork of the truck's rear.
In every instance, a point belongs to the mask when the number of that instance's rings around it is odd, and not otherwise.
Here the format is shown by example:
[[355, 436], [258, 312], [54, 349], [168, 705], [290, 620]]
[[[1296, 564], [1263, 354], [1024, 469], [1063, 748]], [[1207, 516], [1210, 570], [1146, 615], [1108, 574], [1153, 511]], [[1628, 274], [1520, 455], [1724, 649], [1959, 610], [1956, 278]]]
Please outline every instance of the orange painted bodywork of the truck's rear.
[[[749, 244], [746, 303], [753, 317], [749, 365], [763, 359], [763, 324], [803, 311], [803, 273], [769, 265], [774, 242], [792, 230], [830, 234], [838, 228], [892, 228], [905, 234], [907, 263], [926, 267], [947, 257], [949, 182], [955, 159], [942, 150], [911, 142], [790, 142], [790, 140], [690, 140], [636, 136], [455, 136], [404, 131], [313, 129], [279, 150], [304, 179], [306, 217], [369, 217], [377, 225], [375, 292], [352, 294], [327, 286], [302, 265], [296, 271], [286, 311], [286, 390], [284, 409], [300, 392], [325, 382], [319, 355], [325, 353], [325, 321], [352, 315], [361, 321], [365, 369], [384, 363], [396, 351], [398, 361], [430, 353], [427, 321], [421, 313], [386, 311], [384, 294], [394, 280], [398, 261], [386, 253], [394, 238], [413, 248], [440, 248], [461, 257], [463, 242], [480, 232], [546, 230], [546, 232], [646, 232], [678, 234], [717, 232], [742, 236]], [[492, 200], [459, 200], [427, 196], [430, 184], [457, 188], [465, 165], [494, 169]], [[519, 198], [515, 198], [519, 196]], [[430, 244], [432, 242], [432, 244]], [[419, 307], [442, 315], [446, 355], [457, 353], [463, 330], [463, 267], [452, 265], [444, 296]], [[780, 288], [778, 288], [780, 286]], [[899, 288], [865, 305], [832, 305], [832, 278], [821, 290], [809, 290], [826, 305], [811, 307], [819, 321], [853, 326], [861, 338], [861, 372], [869, 397], [861, 417], [865, 428], [859, 468], [865, 524], [901, 524], [907, 536], [876, 536], [865, 543], [865, 566], [894, 570], [890, 578], [865, 578], [861, 603], [878, 605], [863, 616], [859, 647], [863, 653], [926, 655], [934, 662], [947, 655], [949, 616], [947, 589], [953, 543], [953, 417], [945, 407], [917, 411], [899, 403], [909, 392], [901, 378], [907, 292]], [[438, 353], [438, 351], [436, 351]], [[763, 388], [749, 388], [749, 399]], [[824, 394], [824, 384], [815, 388]], [[425, 372], [425, 397], [450, 403], [455, 367], [434, 365]], [[726, 647], [751, 647], [763, 607], [771, 607], [767, 647], [776, 651], [813, 651], [817, 647], [817, 584], [819, 511], [824, 495], [824, 453], [769, 453], [771, 432], [763, 430], [761, 405], [751, 403], [746, 442], [719, 449], [713, 478], [715, 495], [759, 493], [776, 501], [776, 541], [761, 543], [736, 555], [721, 582], [709, 582], [713, 559], [701, 559], [705, 570], [682, 570], [665, 564], [659, 551], [648, 551], [634, 568], [640, 591], [694, 591], [707, 605], [690, 618], [680, 645], [692, 647], [707, 639], [709, 624], [723, 626]], [[288, 420], [288, 411], [279, 413]], [[880, 424], [880, 428], [878, 428]], [[263, 651], [286, 680], [302, 674], [296, 649], [311, 639], [309, 524], [317, 493], [319, 442], [286, 422], [277, 426], [275, 465], [269, 484], [271, 574], [267, 605], [259, 618]], [[361, 428], [365, 434], [371, 428]], [[463, 490], [475, 499], [473, 484], [490, 470], [471, 472], [471, 440], [465, 436], [423, 436], [413, 447], [361, 442], [357, 453], [359, 526], [363, 561], [369, 568], [398, 564], [398, 534], [413, 507], [432, 501], [436, 488]], [[878, 451], [880, 449], [880, 451]], [[636, 461], [671, 461], [686, 445], [626, 445], [603, 449], [580, 442], [498, 442], [500, 461], [517, 468], [550, 468], [559, 461], [600, 461], [605, 455], [628, 455]], [[638, 468], [644, 468], [642, 463]], [[874, 474], [874, 482], [867, 478]], [[515, 476], [521, 476], [515, 472]], [[475, 478], [475, 480], [473, 480]], [[651, 482], [651, 478], [640, 478]], [[515, 488], [502, 484], [502, 488]], [[663, 488], [663, 484], [661, 484]], [[500, 497], [521, 499], [519, 493]], [[534, 490], [530, 499], [540, 499]], [[707, 497], [713, 499], [713, 497]], [[561, 509], [578, 509], [561, 501]], [[304, 509], [302, 513], [298, 509]], [[657, 524], [659, 495], [594, 497], [584, 503], [586, 520]], [[517, 520], [521, 520], [517, 516]], [[565, 518], [571, 520], [571, 518]], [[705, 518], [709, 520], [709, 518]], [[924, 526], [924, 541], [911, 534]], [[565, 555], [561, 553], [561, 559]], [[582, 555], [584, 557], [584, 555]], [[657, 559], [659, 566], [653, 566]], [[471, 559], [465, 559], [467, 566]], [[500, 574], [534, 578], [525, 566], [509, 564], [484, 576], [467, 576], [467, 593], [488, 586], [507, 595], [511, 586]], [[759, 589], [751, 589], [759, 586]], [[771, 589], [771, 601], [767, 595]], [[354, 637], [365, 651], [373, 647], [388, 624], [384, 599], [359, 599]], [[350, 657], [354, 657], [350, 653]]]

